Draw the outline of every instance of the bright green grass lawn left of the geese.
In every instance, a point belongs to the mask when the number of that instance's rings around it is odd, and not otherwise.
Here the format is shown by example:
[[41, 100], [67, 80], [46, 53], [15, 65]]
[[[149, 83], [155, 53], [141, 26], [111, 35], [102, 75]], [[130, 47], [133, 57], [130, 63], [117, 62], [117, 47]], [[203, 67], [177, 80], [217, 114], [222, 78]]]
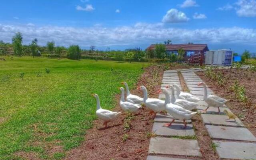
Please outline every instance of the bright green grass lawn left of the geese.
[[[97, 93], [106, 109], [115, 106], [120, 82], [134, 84], [147, 63], [4, 57], [0, 60], [0, 159], [35, 152], [53, 159], [40, 142], [69, 150], [84, 140], [96, 118]], [[46, 73], [46, 68], [50, 73]], [[24, 73], [23, 79], [21, 73]], [[133, 85], [131, 85], [132, 87]]]

